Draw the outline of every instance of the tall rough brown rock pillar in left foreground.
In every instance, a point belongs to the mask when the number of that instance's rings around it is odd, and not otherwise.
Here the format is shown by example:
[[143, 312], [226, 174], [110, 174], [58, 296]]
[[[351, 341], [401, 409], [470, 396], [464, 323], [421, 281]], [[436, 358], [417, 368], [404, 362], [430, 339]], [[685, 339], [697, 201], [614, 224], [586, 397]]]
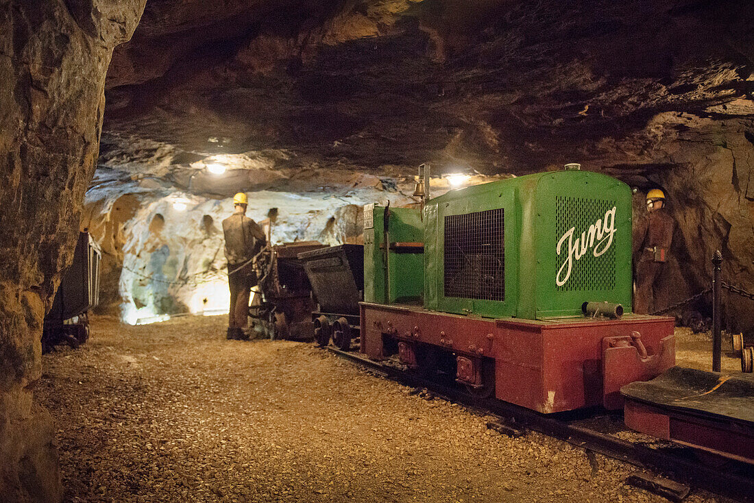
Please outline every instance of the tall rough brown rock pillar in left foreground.
[[112, 49], [145, 0], [0, 1], [0, 495], [62, 497], [54, 423], [33, 402], [45, 308], [72, 260]]

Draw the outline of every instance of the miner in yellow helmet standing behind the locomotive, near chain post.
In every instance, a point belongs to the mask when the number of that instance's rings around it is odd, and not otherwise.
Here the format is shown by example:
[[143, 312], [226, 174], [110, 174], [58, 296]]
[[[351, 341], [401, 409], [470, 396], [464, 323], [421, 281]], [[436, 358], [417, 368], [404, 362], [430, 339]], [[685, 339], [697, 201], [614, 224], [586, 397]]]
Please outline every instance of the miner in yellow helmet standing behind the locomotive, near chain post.
[[661, 275], [676, 228], [676, 222], [665, 208], [665, 195], [660, 189], [647, 192], [647, 210], [649, 219], [639, 248], [636, 295], [633, 299], [633, 312], [639, 314], [648, 314], [654, 303], [654, 282]]

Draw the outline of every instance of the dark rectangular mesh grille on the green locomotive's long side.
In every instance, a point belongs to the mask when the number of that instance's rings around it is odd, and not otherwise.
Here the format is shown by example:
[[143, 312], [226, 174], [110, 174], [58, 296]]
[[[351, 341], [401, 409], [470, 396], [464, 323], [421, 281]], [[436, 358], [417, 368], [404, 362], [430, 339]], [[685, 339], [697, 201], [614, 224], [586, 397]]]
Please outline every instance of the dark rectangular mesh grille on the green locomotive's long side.
[[445, 296], [505, 299], [503, 209], [445, 217]]

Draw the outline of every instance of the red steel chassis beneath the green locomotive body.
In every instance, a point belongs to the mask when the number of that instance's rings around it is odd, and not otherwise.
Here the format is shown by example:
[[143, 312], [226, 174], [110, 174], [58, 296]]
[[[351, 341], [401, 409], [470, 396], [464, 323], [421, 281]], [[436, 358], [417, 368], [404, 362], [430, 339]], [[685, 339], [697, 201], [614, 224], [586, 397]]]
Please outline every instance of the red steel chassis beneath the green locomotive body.
[[621, 386], [652, 379], [676, 362], [673, 317], [493, 320], [417, 306], [362, 302], [360, 308], [367, 357], [382, 360], [397, 343], [400, 360], [416, 367], [418, 355], [434, 346], [455, 355], [456, 381], [482, 388], [492, 379], [495, 397], [541, 413], [599, 404], [619, 409]]

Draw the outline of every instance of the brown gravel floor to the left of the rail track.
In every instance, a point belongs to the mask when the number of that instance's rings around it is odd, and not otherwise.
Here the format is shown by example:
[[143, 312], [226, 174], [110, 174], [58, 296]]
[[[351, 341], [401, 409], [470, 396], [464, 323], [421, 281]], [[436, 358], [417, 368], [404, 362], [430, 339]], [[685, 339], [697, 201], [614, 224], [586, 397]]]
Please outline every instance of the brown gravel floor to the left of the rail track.
[[66, 501], [667, 501], [625, 486], [630, 465], [225, 323], [93, 317], [44, 356]]

